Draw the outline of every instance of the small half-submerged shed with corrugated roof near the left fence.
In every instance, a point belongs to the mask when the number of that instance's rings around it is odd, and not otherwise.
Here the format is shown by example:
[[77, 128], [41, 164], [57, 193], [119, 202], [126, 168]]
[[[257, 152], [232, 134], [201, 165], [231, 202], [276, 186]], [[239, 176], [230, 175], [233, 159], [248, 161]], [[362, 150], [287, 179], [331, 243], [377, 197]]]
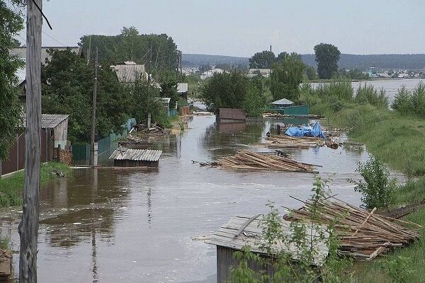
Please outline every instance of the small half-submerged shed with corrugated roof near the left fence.
[[161, 150], [128, 149], [120, 146], [109, 159], [113, 159], [113, 165], [118, 167], [158, 167], [161, 154]]

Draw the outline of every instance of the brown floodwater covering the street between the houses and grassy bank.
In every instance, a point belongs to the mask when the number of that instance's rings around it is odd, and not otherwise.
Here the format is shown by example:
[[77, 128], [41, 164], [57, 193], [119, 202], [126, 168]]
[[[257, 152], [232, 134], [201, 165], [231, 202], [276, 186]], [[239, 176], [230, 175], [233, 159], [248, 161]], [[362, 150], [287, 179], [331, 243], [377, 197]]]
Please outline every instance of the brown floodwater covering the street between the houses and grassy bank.
[[[268, 201], [300, 207], [309, 197], [312, 173], [239, 172], [200, 167], [254, 148], [277, 122], [216, 125], [193, 117], [185, 132], [152, 141], [164, 152], [154, 171], [74, 169], [40, 191], [39, 282], [215, 282], [215, 246], [208, 236], [234, 214], [267, 213]], [[326, 125], [325, 125], [326, 126]], [[344, 137], [342, 137], [344, 139]], [[356, 178], [363, 147], [290, 150], [297, 161], [314, 163], [341, 200], [360, 204], [347, 178]], [[1, 235], [19, 250], [18, 209], [1, 216]], [[284, 213], [284, 209], [280, 209]], [[14, 258], [17, 270], [18, 254]]]

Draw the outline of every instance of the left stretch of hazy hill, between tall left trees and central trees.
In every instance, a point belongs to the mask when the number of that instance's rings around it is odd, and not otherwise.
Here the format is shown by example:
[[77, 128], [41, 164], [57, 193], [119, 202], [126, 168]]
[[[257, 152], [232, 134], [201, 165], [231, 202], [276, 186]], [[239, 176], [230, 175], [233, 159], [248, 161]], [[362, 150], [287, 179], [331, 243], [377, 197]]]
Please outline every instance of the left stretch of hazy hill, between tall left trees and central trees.
[[207, 55], [207, 54], [181, 54], [181, 63], [183, 66], [200, 66], [203, 64], [234, 64], [248, 65], [248, 58], [233, 57], [224, 55]]

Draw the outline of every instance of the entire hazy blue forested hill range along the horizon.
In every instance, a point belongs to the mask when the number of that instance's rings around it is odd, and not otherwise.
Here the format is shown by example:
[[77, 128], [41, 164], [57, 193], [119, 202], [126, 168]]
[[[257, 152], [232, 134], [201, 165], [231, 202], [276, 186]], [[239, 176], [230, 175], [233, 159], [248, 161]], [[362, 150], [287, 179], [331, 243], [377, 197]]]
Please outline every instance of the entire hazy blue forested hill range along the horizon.
[[[302, 61], [316, 66], [314, 54], [302, 54]], [[249, 65], [248, 57], [233, 57], [207, 54], [182, 54], [183, 66], [200, 66], [203, 64], [242, 64]], [[425, 69], [425, 54], [341, 54], [339, 67], [345, 69]]]

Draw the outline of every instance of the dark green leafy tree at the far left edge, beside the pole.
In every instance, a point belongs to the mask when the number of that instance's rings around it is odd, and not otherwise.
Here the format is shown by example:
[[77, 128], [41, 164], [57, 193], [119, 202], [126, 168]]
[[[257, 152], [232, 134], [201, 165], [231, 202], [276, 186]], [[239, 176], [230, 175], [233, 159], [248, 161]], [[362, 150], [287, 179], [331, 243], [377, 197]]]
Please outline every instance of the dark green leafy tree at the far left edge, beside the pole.
[[[22, 1], [11, 1], [11, 5], [21, 4]], [[16, 45], [13, 36], [23, 28], [23, 15], [16, 11], [5, 1], [0, 1], [0, 159], [7, 158], [21, 120], [16, 70], [23, 62], [8, 55], [9, 48]]]

